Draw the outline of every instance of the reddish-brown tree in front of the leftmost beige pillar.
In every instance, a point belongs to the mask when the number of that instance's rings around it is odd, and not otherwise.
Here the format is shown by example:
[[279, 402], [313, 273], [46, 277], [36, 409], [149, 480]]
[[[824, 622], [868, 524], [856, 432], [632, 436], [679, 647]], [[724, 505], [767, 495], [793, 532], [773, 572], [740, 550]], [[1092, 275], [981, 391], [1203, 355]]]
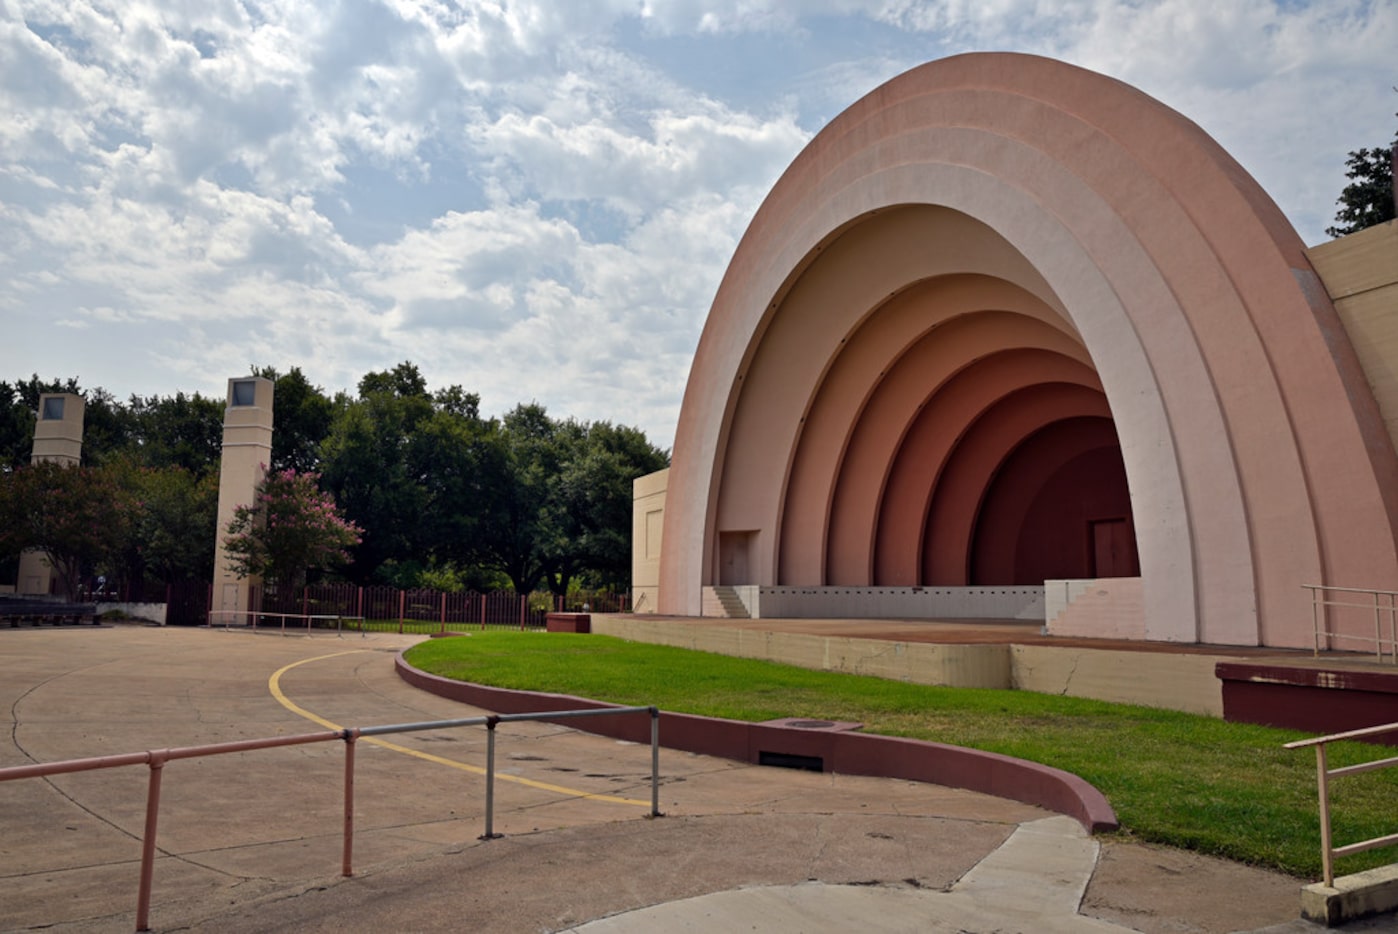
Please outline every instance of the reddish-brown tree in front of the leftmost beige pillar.
[[110, 471], [53, 461], [0, 474], [0, 554], [38, 548], [73, 598], [123, 541], [130, 502]]

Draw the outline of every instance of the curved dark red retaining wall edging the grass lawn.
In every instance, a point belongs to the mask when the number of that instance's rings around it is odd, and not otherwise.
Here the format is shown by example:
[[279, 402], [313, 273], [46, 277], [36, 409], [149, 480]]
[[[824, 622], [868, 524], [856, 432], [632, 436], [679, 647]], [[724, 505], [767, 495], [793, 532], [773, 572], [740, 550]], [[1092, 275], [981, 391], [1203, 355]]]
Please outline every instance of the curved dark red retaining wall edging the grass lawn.
[[[415, 688], [495, 713], [618, 706], [563, 694], [512, 691], [453, 681], [414, 668], [401, 653], [396, 668], [398, 677]], [[650, 724], [636, 716], [584, 717], [569, 720], [568, 726], [617, 740], [650, 742]], [[1117, 829], [1117, 815], [1107, 798], [1076, 775], [995, 752], [924, 740], [805, 730], [781, 723], [747, 723], [665, 710], [660, 713], [660, 737], [667, 749], [754, 763], [773, 755], [819, 759], [826, 772], [967, 789], [1067, 814], [1090, 833]]]

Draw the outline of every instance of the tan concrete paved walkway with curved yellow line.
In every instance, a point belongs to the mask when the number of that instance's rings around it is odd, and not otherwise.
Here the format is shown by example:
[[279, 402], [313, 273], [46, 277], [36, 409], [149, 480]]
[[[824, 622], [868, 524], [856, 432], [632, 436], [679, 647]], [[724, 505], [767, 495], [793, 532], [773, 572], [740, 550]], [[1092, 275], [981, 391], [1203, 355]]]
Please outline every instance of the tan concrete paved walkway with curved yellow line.
[[[481, 713], [397, 678], [412, 640], [0, 632], [0, 768]], [[1296, 879], [938, 786], [663, 751], [646, 819], [647, 747], [538, 723], [498, 728], [503, 838], [482, 842], [485, 742], [362, 740], [348, 879], [343, 744], [171, 762], [152, 928], [1317, 930], [1292, 921]], [[0, 928], [133, 930], [145, 786], [144, 766], [0, 783]]]

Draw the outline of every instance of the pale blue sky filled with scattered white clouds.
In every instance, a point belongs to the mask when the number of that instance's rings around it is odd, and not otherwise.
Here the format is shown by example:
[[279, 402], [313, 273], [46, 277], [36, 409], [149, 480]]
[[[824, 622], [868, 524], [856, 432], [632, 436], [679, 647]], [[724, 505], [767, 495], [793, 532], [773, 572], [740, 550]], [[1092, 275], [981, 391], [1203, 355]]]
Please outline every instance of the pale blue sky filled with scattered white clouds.
[[670, 447], [781, 171], [977, 50], [1184, 113], [1310, 245], [1398, 126], [1398, 0], [0, 0], [0, 379], [412, 361]]

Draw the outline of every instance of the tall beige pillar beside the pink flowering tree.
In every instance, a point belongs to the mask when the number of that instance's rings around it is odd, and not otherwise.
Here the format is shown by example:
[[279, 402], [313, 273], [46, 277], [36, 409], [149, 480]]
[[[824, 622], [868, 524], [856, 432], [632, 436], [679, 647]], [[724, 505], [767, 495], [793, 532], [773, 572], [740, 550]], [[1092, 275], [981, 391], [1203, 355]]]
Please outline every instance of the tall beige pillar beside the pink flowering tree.
[[228, 380], [224, 410], [224, 456], [218, 468], [218, 531], [214, 547], [214, 624], [243, 625], [256, 608], [257, 577], [228, 570], [224, 536], [238, 506], [252, 505], [271, 463], [273, 382], [261, 376]]

